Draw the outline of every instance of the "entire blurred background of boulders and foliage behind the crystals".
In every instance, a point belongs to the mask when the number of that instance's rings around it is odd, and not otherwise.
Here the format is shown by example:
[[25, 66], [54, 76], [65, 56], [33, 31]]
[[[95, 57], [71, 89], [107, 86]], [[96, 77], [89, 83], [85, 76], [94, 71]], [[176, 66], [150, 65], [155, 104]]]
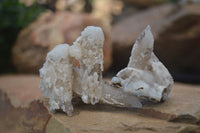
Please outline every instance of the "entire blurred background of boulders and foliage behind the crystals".
[[104, 31], [104, 76], [112, 77], [148, 24], [175, 81], [200, 83], [200, 0], [0, 0], [0, 74], [38, 75], [48, 51], [93, 25]]

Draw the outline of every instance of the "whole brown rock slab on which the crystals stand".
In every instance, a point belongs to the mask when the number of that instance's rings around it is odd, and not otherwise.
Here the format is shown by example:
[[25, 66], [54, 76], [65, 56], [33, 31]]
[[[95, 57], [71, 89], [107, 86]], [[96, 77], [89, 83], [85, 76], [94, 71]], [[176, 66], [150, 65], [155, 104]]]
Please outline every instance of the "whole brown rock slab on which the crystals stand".
[[[190, 133], [200, 130], [198, 126], [199, 85], [175, 83], [167, 101], [161, 104], [146, 103], [143, 109], [93, 106], [78, 102], [75, 104], [76, 115], [73, 117], [68, 117], [61, 112], [52, 115], [46, 108], [47, 99], [34, 100], [42, 96], [38, 86], [39, 77], [0, 76], [1, 131], [12, 133], [53, 133], [55, 131], [60, 133]], [[21, 97], [26, 98], [20, 100]], [[10, 102], [12, 99], [21, 102], [16, 102], [18, 103], [16, 106], [15, 102]], [[193, 117], [188, 117], [187, 114]]]

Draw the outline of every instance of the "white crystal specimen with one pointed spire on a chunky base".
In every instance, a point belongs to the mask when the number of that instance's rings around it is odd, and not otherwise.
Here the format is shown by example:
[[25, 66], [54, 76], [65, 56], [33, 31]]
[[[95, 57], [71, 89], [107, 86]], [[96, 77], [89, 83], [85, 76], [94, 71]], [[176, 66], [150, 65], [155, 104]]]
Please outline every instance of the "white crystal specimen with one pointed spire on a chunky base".
[[125, 92], [150, 100], [165, 101], [173, 86], [173, 78], [153, 53], [154, 38], [150, 26], [136, 40], [128, 66], [113, 77]]

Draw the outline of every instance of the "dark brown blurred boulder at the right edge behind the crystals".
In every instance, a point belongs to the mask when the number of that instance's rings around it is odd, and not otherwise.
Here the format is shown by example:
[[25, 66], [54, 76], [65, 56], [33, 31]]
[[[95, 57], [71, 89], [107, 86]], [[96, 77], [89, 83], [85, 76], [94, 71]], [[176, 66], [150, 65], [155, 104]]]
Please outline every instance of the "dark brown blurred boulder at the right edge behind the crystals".
[[[166, 26], [155, 41], [155, 53], [174, 73], [200, 72], [199, 8], [200, 5], [185, 6], [182, 9], [184, 13]], [[183, 76], [177, 78], [183, 81]], [[198, 81], [194, 77], [185, 78], [200, 82], [199, 77]]]

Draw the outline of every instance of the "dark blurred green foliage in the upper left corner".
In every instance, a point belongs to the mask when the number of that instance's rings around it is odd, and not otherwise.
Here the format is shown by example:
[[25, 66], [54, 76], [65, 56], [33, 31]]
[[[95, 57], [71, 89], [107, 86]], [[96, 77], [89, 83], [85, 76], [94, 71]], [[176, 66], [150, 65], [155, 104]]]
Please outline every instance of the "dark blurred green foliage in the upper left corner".
[[0, 0], [0, 73], [12, 69], [11, 48], [19, 31], [44, 10], [37, 4], [27, 7], [18, 0]]

